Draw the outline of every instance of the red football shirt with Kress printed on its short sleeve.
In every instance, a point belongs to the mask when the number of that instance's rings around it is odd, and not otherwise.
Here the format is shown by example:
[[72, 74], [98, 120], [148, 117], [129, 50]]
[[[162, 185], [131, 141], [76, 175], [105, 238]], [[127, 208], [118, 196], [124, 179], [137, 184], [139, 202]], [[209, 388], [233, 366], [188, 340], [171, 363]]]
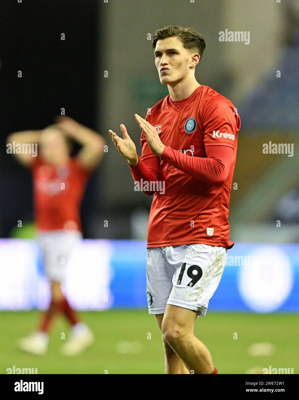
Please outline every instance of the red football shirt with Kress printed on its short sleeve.
[[[156, 191], [153, 196], [148, 248], [191, 243], [231, 248], [229, 197], [241, 125], [237, 109], [227, 98], [201, 85], [181, 101], [173, 102], [166, 96], [151, 108], [146, 120], [155, 126], [166, 146], [157, 157], [158, 178], [165, 182], [165, 193]], [[144, 132], [141, 146], [142, 161], [156, 157]], [[204, 174], [195, 170], [196, 158], [207, 158], [205, 146], [233, 149], [228, 176], [220, 185], [201, 180]], [[139, 166], [130, 168], [133, 174]]]

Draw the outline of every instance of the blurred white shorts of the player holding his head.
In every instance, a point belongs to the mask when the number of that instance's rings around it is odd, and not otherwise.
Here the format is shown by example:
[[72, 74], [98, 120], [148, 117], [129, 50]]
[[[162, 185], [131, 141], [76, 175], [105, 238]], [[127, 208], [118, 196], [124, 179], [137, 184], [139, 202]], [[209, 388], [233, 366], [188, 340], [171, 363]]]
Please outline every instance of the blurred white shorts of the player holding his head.
[[42, 250], [44, 271], [49, 280], [63, 282], [72, 249], [80, 242], [78, 230], [40, 231], [38, 244]]

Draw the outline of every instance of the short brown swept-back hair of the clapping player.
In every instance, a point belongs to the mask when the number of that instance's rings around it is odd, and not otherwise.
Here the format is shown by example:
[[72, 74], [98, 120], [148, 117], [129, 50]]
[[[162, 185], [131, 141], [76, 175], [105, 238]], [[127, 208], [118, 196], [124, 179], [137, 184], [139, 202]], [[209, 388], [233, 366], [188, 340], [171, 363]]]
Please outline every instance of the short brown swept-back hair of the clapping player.
[[165, 26], [157, 30], [153, 36], [153, 48], [160, 39], [172, 38], [176, 36], [183, 44], [183, 48], [188, 50], [197, 50], [200, 59], [205, 50], [204, 38], [194, 28], [181, 28], [180, 26]]

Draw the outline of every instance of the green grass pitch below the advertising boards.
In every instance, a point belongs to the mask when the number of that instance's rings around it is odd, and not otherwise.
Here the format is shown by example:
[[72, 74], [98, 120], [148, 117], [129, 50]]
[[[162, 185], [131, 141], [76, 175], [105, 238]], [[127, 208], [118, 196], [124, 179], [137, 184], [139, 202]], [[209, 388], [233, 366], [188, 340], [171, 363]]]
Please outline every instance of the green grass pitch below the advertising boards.
[[[60, 355], [69, 332], [60, 317], [50, 332], [45, 356], [31, 356], [16, 348], [19, 338], [32, 332], [40, 320], [37, 311], [1, 312], [0, 373], [7, 368], [38, 368], [38, 374], [163, 374], [161, 332], [147, 310], [109, 310], [80, 313], [96, 342], [84, 354]], [[245, 314], [207, 312], [197, 318], [195, 335], [211, 352], [219, 374], [245, 374], [250, 368], [294, 368], [299, 372], [298, 316], [296, 314]], [[234, 334], [237, 333], [237, 339]], [[254, 343], [271, 343], [271, 355], [252, 356]]]

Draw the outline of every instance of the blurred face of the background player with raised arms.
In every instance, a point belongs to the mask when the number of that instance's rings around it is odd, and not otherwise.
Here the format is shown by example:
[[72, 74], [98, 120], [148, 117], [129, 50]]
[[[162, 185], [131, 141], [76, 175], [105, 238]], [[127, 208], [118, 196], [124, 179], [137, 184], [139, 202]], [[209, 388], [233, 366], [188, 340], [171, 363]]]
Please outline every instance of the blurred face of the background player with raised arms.
[[68, 158], [68, 146], [63, 134], [56, 129], [43, 130], [39, 146], [40, 154], [49, 164], [60, 164]]

